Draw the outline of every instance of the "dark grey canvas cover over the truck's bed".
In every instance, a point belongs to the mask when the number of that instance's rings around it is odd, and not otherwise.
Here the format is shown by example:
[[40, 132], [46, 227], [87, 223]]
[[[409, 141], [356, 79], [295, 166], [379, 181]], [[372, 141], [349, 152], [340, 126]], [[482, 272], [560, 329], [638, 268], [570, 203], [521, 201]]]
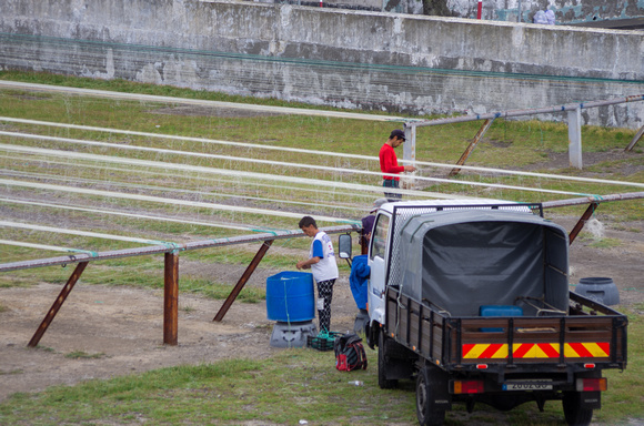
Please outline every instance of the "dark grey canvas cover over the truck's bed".
[[[520, 296], [567, 311], [567, 233], [541, 216], [434, 212], [411, 217], [400, 239], [401, 293], [451, 316], [477, 316], [482, 305], [516, 305]], [[524, 315], [536, 310], [527, 306]]]

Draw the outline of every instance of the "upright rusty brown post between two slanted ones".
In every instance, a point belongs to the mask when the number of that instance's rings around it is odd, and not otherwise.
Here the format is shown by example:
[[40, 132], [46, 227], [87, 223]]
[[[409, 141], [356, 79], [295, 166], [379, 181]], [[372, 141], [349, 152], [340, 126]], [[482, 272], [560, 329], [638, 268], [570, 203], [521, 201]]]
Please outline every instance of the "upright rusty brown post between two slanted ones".
[[175, 346], [179, 331], [179, 254], [165, 253], [163, 291], [163, 343]]

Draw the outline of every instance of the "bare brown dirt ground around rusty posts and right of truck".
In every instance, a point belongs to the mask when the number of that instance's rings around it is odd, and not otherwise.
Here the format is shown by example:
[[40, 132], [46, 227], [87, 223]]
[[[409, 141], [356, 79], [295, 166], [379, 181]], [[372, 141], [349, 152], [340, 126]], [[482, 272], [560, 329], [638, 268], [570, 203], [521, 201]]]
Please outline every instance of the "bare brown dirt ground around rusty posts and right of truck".
[[[571, 230], [576, 217], [552, 217]], [[620, 288], [621, 306], [643, 310], [644, 224], [604, 222], [605, 237], [620, 245], [596, 248], [583, 239], [572, 246], [571, 282], [586, 276], [612, 277]], [[200, 273], [220, 274], [228, 266], [201, 265]], [[180, 265], [181, 270], [181, 265]], [[191, 267], [191, 273], [194, 272]], [[258, 270], [248, 285], [263, 285], [275, 273]], [[70, 268], [71, 274], [71, 268]], [[239, 273], [241, 276], [241, 272]], [[225, 274], [233, 276], [233, 273]], [[180, 364], [208, 363], [230, 357], [262, 358], [270, 346], [274, 322], [266, 320], [265, 303], [234, 303], [221, 323], [212, 321], [222, 301], [181, 294], [179, 345], [163, 345], [162, 291], [79, 283], [40, 341], [31, 336], [58, 296], [61, 285], [40, 283], [29, 288], [0, 288], [0, 402], [16, 392], [41, 390], [57, 384], [108, 378]], [[336, 283], [332, 328], [353, 327], [356, 313], [346, 276]], [[95, 357], [73, 358], [84, 353]]]

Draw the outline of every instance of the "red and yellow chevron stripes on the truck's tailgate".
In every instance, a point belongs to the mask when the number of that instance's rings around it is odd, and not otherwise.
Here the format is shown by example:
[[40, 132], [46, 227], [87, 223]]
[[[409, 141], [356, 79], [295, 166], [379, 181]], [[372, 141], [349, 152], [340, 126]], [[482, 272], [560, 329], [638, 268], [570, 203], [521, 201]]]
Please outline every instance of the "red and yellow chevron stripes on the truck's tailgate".
[[[506, 343], [464, 344], [463, 359], [507, 358]], [[559, 343], [515, 343], [512, 345], [514, 358], [559, 358]], [[565, 343], [566, 358], [607, 358], [611, 354], [610, 342]]]

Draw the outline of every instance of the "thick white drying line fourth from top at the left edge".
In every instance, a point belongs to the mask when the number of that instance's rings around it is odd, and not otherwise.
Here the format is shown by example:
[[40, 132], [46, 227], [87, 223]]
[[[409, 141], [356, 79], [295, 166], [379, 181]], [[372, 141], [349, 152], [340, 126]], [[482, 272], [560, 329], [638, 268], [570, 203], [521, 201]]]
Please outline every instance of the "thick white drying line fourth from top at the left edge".
[[[108, 156], [108, 155], [97, 155], [97, 154], [84, 154], [80, 152], [71, 152], [71, 151], [59, 151], [59, 150], [50, 150], [44, 148], [34, 148], [34, 146], [21, 146], [21, 145], [10, 145], [10, 144], [0, 144], [0, 150], [13, 151], [13, 152], [27, 152], [30, 154], [41, 154], [41, 155], [51, 155], [51, 156], [63, 156], [66, 159], [79, 159], [79, 160], [89, 160], [89, 161], [98, 161], [98, 162], [107, 162], [107, 163], [120, 163], [120, 164], [130, 164], [137, 168], [147, 166], [147, 168], [159, 168], [159, 169], [173, 169], [173, 170], [181, 170], [188, 173], [208, 173], [208, 174], [224, 174], [224, 175], [233, 175], [235, 178], [248, 178], [248, 179], [256, 179], [260, 181], [273, 180], [280, 182], [290, 182], [290, 183], [298, 183], [298, 184], [305, 184], [312, 186], [333, 186], [333, 187], [343, 187], [348, 190], [354, 191], [369, 191], [369, 192], [378, 192], [382, 193], [382, 186], [371, 186], [371, 185], [361, 185], [355, 183], [346, 183], [346, 182], [336, 182], [336, 181], [324, 181], [319, 179], [309, 179], [309, 178], [292, 178], [292, 176], [284, 176], [284, 175], [275, 175], [275, 174], [266, 174], [266, 173], [255, 173], [255, 172], [243, 172], [239, 170], [222, 170], [222, 169], [212, 169], [212, 168], [204, 168], [201, 165], [191, 165], [191, 164], [179, 164], [179, 163], [167, 163], [161, 161], [151, 161], [151, 160], [137, 160], [137, 159], [128, 159], [121, 156]], [[353, 171], [352, 171], [353, 173]], [[456, 182], [456, 181], [454, 181]], [[485, 184], [481, 184], [485, 185]], [[489, 185], [485, 185], [489, 186]], [[436, 199], [459, 199], [462, 200], [464, 196], [457, 195], [450, 195], [450, 194], [441, 194], [436, 192], [425, 192], [425, 191], [413, 191], [413, 190], [398, 190], [388, 189], [389, 192], [399, 192], [407, 195], [417, 195], [424, 199], [436, 197]], [[575, 195], [585, 195], [574, 193]]]

